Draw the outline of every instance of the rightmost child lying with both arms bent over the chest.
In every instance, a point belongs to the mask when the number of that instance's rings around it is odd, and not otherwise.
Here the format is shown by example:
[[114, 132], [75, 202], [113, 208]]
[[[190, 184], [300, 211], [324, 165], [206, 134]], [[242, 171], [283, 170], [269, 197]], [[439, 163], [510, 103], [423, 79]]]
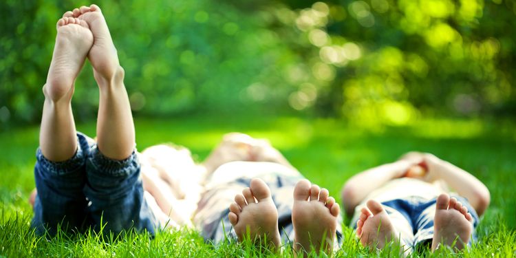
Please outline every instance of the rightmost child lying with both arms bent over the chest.
[[473, 175], [417, 152], [354, 175], [342, 198], [363, 246], [383, 248], [395, 241], [407, 253], [420, 244], [431, 243], [432, 251], [440, 244], [470, 245], [490, 202], [487, 187]]

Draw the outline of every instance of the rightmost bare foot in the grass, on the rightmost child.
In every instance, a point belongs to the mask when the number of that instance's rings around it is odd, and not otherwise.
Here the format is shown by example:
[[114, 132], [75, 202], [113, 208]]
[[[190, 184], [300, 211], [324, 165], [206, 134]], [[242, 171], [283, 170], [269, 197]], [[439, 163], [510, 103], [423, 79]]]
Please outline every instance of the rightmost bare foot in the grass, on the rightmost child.
[[432, 251], [439, 248], [440, 244], [454, 246], [458, 250], [464, 248], [473, 231], [472, 223], [473, 217], [457, 199], [450, 199], [446, 193], [439, 195], [433, 219]]

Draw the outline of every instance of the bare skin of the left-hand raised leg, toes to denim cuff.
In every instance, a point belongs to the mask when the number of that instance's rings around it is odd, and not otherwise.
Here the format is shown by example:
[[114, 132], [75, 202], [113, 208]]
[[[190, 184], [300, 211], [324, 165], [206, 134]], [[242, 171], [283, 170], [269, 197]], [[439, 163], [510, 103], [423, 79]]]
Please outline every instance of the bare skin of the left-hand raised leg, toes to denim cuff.
[[57, 22], [56, 45], [43, 86], [45, 103], [39, 133], [41, 152], [53, 162], [68, 160], [77, 150], [71, 101], [75, 80], [92, 43], [92, 32], [85, 21], [63, 17]]

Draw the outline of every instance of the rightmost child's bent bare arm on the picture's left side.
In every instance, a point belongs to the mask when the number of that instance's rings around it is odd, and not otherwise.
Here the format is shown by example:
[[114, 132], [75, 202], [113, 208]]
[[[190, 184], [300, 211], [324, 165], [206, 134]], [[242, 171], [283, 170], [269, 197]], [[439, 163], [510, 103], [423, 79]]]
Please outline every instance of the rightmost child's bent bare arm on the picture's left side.
[[364, 198], [394, 178], [401, 178], [413, 164], [407, 160], [398, 160], [393, 163], [376, 166], [358, 173], [344, 184], [341, 197], [348, 216], [353, 215], [355, 207]]

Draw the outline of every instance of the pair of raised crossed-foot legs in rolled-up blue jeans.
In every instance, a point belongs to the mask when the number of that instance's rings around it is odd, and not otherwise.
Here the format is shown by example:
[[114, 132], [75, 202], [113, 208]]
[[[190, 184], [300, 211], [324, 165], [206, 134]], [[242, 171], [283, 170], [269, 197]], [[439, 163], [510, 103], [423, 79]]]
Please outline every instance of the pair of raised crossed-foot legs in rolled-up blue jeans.
[[[97, 140], [77, 133], [71, 100], [85, 58], [94, 69], [100, 99]], [[143, 199], [140, 165], [124, 69], [98, 6], [65, 12], [57, 22], [54, 54], [43, 86], [45, 102], [34, 167], [37, 197], [32, 226], [48, 230], [154, 232], [156, 220]]]

